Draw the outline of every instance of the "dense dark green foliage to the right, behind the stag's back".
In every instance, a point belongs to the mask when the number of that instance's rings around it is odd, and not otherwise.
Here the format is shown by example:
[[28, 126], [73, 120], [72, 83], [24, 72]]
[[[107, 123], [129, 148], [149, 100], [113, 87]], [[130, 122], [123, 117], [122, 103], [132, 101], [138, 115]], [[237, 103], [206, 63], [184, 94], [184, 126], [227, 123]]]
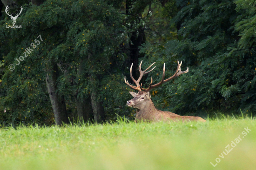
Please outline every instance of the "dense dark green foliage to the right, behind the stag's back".
[[[141, 51], [150, 62], [166, 62], [173, 72], [177, 59], [183, 70], [189, 67], [189, 73], [159, 89], [158, 98], [167, 101], [160, 106], [180, 114], [255, 112], [253, 2], [177, 0], [176, 5], [182, 6], [171, 20], [179, 28], [177, 39], [162, 46], [146, 44]], [[156, 75], [153, 79], [161, 77]]]

